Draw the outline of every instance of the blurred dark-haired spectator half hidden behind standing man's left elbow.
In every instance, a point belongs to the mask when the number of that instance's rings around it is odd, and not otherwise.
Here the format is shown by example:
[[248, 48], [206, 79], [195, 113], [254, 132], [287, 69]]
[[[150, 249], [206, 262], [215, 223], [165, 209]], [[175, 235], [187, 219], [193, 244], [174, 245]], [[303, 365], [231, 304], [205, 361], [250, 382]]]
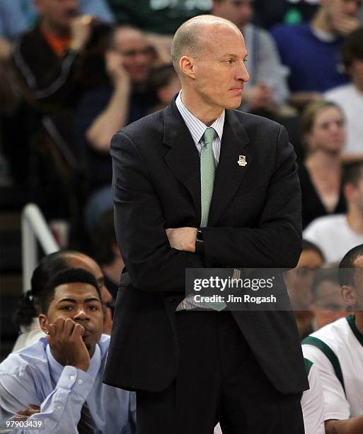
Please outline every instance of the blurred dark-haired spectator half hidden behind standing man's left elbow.
[[105, 286], [110, 290], [113, 299], [116, 299], [125, 264], [117, 247], [113, 209], [100, 215], [92, 233], [93, 255], [102, 269]]

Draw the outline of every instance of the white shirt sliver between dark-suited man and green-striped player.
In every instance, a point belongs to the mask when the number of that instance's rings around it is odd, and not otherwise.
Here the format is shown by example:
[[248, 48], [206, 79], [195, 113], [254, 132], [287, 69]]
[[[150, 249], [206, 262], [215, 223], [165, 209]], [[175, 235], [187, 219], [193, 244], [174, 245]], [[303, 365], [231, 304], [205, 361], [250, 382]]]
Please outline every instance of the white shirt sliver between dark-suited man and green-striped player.
[[[325, 434], [323, 419], [324, 401], [318, 369], [314, 365], [309, 364], [309, 361], [305, 363], [305, 366], [310, 386], [310, 389], [304, 391], [301, 397], [301, 410], [304, 417], [305, 433]], [[216, 428], [214, 428], [214, 434], [222, 434], [221, 425], [218, 424]]]

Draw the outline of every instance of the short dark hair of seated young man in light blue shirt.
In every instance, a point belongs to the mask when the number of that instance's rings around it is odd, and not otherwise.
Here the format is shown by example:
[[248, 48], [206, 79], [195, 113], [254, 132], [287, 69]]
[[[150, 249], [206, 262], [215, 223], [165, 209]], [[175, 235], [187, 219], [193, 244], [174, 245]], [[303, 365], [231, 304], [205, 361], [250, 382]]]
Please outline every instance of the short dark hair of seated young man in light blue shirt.
[[50, 303], [54, 299], [54, 291], [55, 289], [64, 284], [71, 283], [82, 283], [82, 284], [90, 284], [95, 287], [98, 296], [101, 299], [100, 295], [100, 287], [96, 281], [96, 278], [90, 272], [86, 271], [83, 268], [67, 268], [62, 269], [62, 271], [57, 272], [50, 278], [50, 280], [45, 285], [45, 289], [43, 289], [42, 294], [40, 296], [40, 303], [42, 304], [42, 312], [46, 313]]

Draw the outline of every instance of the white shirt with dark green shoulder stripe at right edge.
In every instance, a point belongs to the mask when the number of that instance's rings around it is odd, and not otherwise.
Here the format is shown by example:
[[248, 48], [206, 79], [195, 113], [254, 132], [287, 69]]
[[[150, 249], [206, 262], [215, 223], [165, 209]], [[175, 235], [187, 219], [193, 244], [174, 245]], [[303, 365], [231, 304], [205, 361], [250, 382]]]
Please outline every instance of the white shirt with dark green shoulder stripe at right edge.
[[363, 414], [363, 335], [355, 316], [340, 318], [303, 340], [304, 357], [318, 368], [324, 420]]

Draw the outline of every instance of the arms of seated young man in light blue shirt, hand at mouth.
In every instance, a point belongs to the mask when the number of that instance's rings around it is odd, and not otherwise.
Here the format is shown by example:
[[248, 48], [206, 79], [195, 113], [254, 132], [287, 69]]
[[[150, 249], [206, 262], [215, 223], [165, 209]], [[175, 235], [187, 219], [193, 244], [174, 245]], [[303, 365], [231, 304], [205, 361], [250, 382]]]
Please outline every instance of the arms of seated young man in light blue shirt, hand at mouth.
[[[30, 364], [11, 374], [0, 374], [1, 421], [17, 419], [17, 415], [21, 415], [30, 421], [42, 421], [49, 433], [56, 429], [59, 433], [78, 433], [76, 428], [81, 408], [94, 383], [94, 378], [86, 373], [90, 357], [82, 340], [83, 331], [83, 327], [70, 318], [66, 321], [58, 318], [57, 323], [50, 325], [47, 339], [52, 355], [64, 366], [53, 390], [51, 379], [42, 384], [38, 377], [39, 367], [35, 369]], [[46, 365], [45, 369], [49, 367]], [[44, 394], [47, 396], [42, 400]], [[26, 432], [18, 430], [18, 433]], [[44, 433], [44, 430], [39, 430], [39, 433]]]

